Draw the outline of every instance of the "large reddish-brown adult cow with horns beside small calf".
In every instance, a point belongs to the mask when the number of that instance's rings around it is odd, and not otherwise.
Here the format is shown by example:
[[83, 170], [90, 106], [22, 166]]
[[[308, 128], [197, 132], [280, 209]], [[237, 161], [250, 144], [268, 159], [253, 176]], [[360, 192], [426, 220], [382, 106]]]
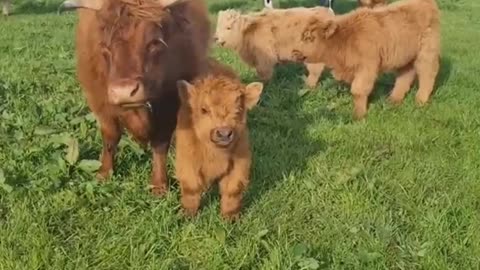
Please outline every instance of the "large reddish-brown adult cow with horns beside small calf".
[[207, 65], [210, 22], [202, 0], [68, 0], [79, 9], [77, 74], [103, 138], [100, 178], [113, 172], [125, 127], [153, 151], [154, 194], [167, 191], [166, 160], [179, 106], [176, 82]]

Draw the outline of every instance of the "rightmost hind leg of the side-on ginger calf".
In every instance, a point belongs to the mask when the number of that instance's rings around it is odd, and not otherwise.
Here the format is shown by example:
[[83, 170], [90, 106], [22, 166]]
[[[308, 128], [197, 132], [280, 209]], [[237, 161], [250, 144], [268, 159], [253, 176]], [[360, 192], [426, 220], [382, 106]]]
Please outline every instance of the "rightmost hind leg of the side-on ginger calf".
[[423, 106], [428, 102], [440, 69], [440, 37], [438, 31], [430, 30], [422, 40], [422, 48], [415, 60], [418, 75], [418, 92], [416, 103]]

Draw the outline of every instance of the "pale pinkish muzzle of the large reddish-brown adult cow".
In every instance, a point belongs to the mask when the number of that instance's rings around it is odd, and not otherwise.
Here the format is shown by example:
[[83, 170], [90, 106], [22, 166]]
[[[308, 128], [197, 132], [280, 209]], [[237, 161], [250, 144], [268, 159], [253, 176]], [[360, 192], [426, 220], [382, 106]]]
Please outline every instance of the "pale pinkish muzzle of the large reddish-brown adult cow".
[[141, 105], [145, 102], [145, 90], [139, 80], [116, 80], [108, 87], [108, 98], [114, 105]]

